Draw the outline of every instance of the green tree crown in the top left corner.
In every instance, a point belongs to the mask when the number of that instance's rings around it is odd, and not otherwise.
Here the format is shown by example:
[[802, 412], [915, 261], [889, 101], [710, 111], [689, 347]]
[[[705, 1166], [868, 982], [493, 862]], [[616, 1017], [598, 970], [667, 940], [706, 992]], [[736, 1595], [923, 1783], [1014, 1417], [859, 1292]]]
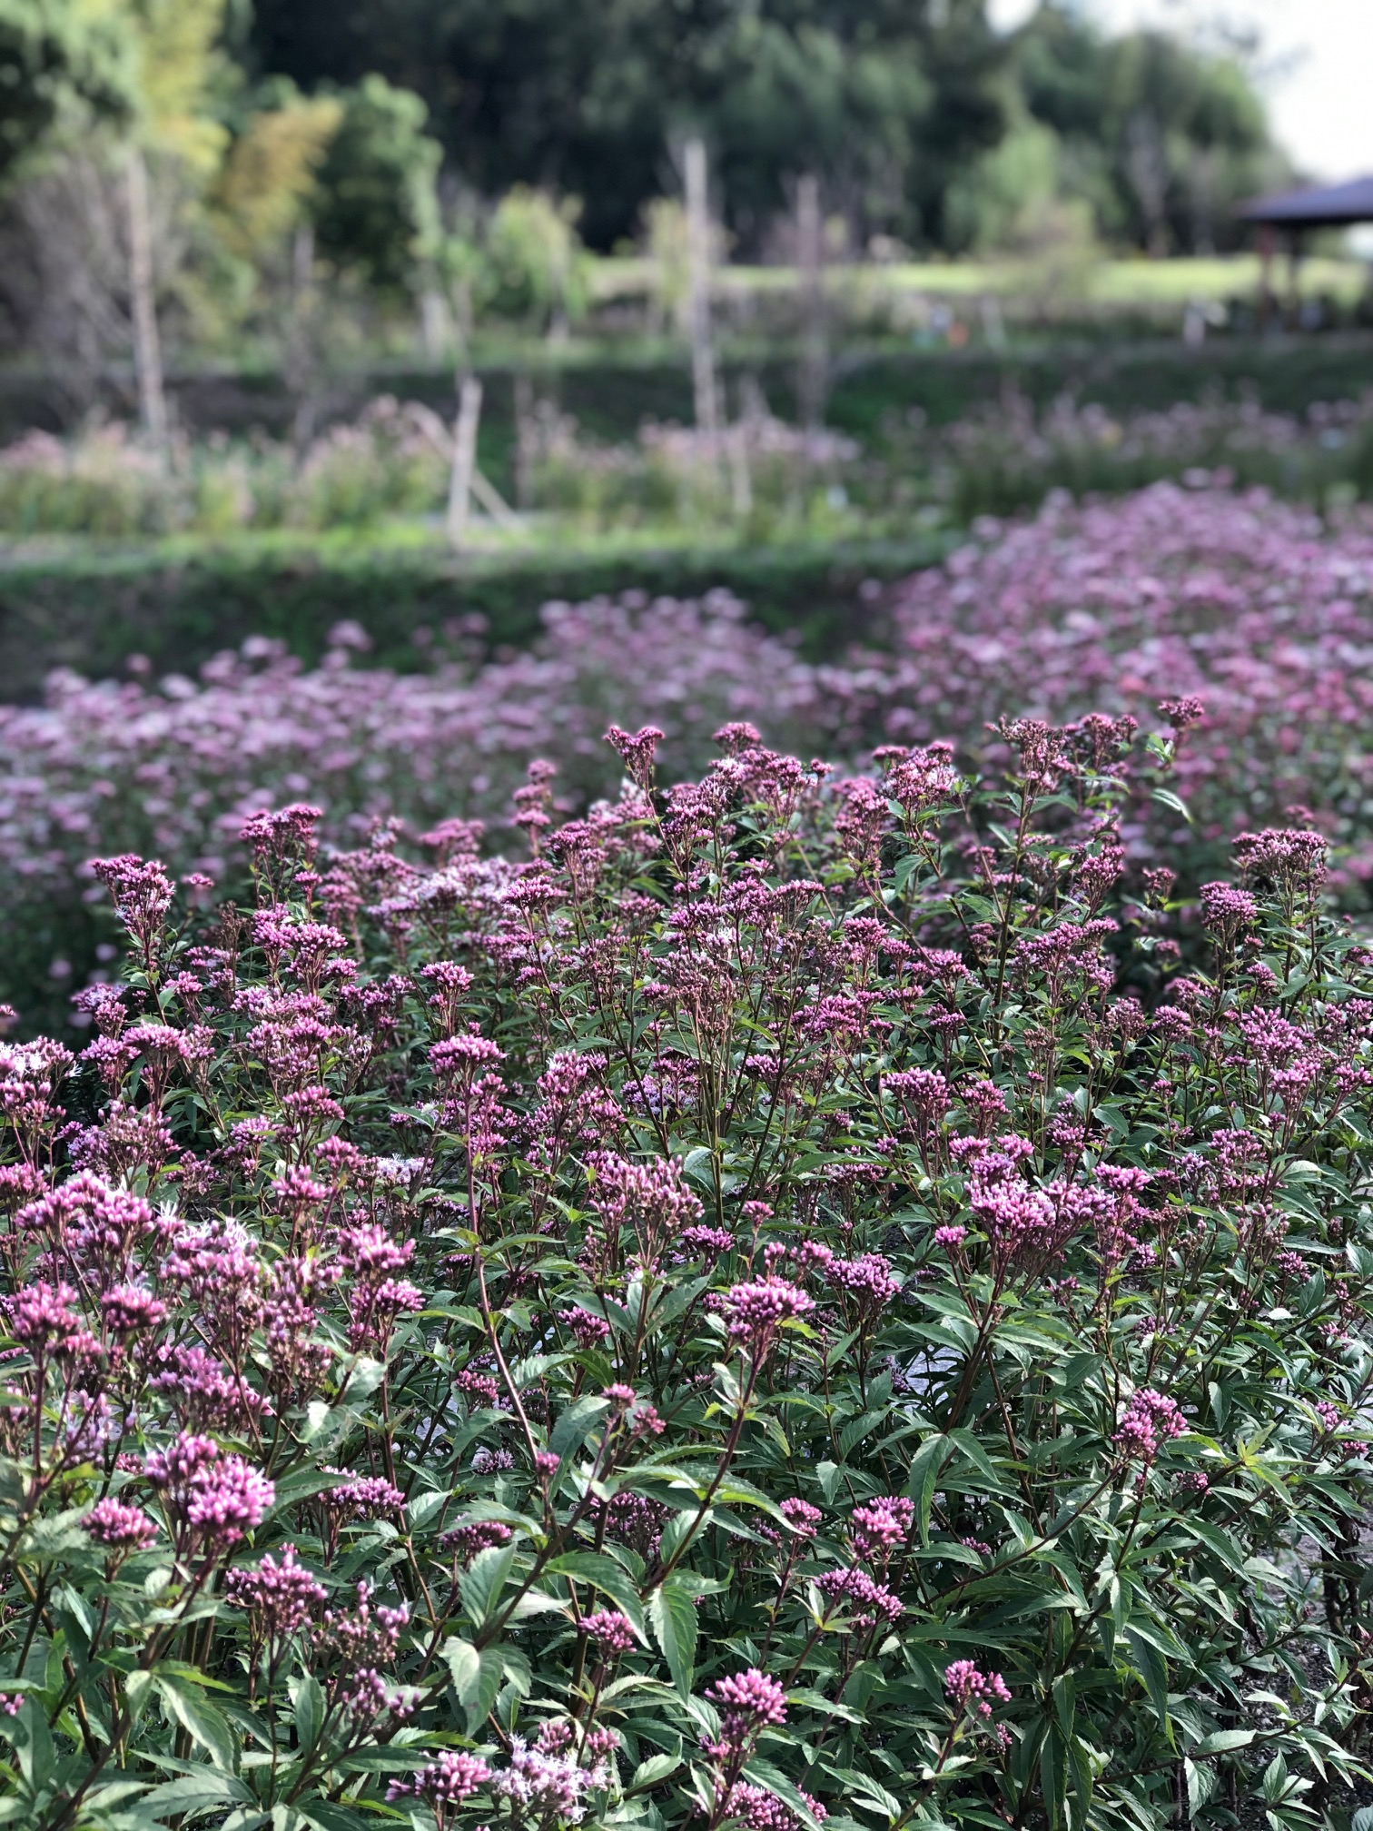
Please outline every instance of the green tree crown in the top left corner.
[[134, 103], [124, 18], [79, 0], [0, 0], [0, 187], [64, 132], [126, 123]]

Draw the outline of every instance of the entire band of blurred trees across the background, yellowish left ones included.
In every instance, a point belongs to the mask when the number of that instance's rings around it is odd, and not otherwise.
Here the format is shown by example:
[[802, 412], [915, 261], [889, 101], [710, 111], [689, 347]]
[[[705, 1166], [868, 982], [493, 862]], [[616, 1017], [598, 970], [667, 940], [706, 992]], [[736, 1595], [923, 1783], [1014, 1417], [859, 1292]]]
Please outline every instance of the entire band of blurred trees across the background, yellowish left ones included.
[[1104, 245], [1232, 247], [1289, 176], [1239, 57], [1069, 0], [1011, 35], [987, 0], [0, 0], [0, 344], [86, 388], [124, 348], [135, 148], [174, 342], [298, 341], [315, 258], [430, 353], [487, 308], [555, 333], [586, 251], [666, 271], [694, 135], [738, 258], [791, 258], [818, 179], [831, 245], [1011, 255], [1045, 298]]

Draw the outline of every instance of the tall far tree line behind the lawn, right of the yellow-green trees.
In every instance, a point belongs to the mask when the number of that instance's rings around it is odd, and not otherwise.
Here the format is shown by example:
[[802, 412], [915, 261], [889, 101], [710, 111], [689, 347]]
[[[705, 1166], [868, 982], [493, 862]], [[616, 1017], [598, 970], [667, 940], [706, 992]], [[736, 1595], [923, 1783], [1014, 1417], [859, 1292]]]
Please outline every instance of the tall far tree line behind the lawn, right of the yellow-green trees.
[[1011, 38], [985, 0], [256, 0], [245, 49], [306, 90], [372, 71], [412, 90], [465, 185], [577, 196], [599, 249], [676, 189], [686, 132], [705, 134], [745, 251], [804, 172], [860, 234], [985, 238], [968, 185], [1005, 189], [981, 161], [1025, 121], [1053, 135], [1027, 181], [1047, 146], [1054, 187], [1137, 245], [1210, 247], [1270, 157], [1234, 59], [1162, 33], [1108, 38], [1060, 0]]

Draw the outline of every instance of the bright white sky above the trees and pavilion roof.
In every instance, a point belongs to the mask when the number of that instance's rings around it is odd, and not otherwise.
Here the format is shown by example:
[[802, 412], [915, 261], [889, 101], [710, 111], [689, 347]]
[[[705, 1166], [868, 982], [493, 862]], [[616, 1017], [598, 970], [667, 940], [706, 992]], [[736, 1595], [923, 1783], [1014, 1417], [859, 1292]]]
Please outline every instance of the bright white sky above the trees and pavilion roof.
[[[1278, 139], [1318, 179], [1373, 172], [1373, 0], [1080, 0], [1104, 26], [1223, 18], [1261, 35], [1259, 75]], [[1003, 29], [1036, 0], [990, 0]]]

